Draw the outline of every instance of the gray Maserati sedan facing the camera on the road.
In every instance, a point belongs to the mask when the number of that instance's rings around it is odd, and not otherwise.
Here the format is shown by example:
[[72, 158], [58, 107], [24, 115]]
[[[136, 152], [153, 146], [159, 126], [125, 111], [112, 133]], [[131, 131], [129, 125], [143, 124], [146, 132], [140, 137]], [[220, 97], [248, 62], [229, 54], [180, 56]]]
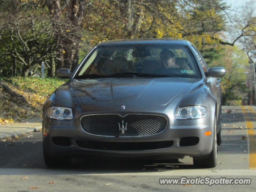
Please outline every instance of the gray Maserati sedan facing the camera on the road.
[[45, 101], [47, 166], [80, 156], [193, 158], [212, 168], [221, 144], [226, 70], [208, 68], [186, 40], [128, 39], [98, 44]]

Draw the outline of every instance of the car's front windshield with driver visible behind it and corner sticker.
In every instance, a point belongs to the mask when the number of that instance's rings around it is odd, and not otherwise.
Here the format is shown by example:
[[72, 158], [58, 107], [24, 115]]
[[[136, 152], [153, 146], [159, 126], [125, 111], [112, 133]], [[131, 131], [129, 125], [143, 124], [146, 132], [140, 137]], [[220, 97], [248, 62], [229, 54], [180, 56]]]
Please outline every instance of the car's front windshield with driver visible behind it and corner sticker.
[[201, 78], [186, 45], [99, 46], [78, 69], [75, 78], [184, 77]]

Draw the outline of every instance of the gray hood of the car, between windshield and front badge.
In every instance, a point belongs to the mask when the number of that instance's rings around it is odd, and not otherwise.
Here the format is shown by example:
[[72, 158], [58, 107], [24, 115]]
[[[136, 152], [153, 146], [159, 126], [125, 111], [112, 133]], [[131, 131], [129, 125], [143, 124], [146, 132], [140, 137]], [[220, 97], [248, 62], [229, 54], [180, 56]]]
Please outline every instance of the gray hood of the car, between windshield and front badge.
[[191, 78], [99, 78], [73, 80], [82, 104], [92, 100], [108, 103], [166, 105], [198, 79]]

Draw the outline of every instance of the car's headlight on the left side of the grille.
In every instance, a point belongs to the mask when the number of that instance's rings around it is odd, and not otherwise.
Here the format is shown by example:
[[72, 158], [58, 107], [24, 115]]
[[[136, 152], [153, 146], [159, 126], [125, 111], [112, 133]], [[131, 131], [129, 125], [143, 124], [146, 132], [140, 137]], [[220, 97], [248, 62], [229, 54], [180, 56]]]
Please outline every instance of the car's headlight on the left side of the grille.
[[72, 109], [68, 107], [50, 107], [47, 116], [51, 119], [71, 120], [73, 119]]

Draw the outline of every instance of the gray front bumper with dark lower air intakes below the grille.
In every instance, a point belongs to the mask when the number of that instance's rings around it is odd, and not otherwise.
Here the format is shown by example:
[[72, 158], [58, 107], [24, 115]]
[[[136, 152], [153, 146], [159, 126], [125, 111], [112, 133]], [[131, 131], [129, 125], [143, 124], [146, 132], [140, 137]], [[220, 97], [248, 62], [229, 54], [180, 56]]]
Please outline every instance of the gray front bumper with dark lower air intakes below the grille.
[[[197, 120], [172, 120], [160, 134], [141, 137], [104, 137], [86, 134], [75, 120], [43, 121], [43, 148], [50, 156], [147, 157], [185, 155], [200, 157], [212, 151], [210, 116]], [[136, 145], [138, 146], [136, 148]], [[119, 147], [120, 146], [120, 147]], [[143, 148], [143, 146], [146, 146]], [[154, 147], [155, 146], [155, 147]]]

